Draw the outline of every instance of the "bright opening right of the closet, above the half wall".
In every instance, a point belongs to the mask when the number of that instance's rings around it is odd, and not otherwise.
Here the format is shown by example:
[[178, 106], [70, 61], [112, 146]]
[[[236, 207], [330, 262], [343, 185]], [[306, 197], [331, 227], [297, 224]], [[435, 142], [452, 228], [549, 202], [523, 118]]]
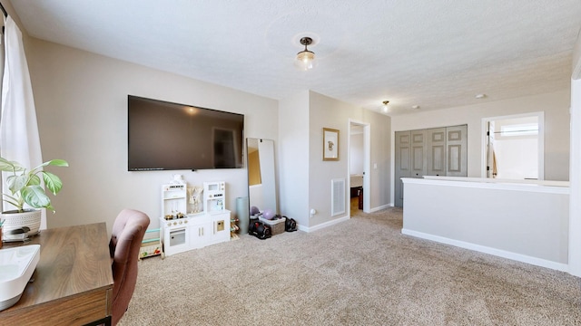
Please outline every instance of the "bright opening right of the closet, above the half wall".
[[543, 180], [544, 113], [483, 119], [483, 177]]

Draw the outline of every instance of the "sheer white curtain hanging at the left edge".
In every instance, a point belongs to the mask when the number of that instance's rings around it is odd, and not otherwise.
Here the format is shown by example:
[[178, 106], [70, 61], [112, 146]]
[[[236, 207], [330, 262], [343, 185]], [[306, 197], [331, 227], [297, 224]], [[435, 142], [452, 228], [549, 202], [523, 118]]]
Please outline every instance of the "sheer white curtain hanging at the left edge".
[[[36, 124], [33, 89], [26, 62], [22, 33], [10, 17], [5, 17], [5, 61], [0, 116], [0, 155], [27, 168], [42, 164], [40, 138]], [[2, 176], [5, 185], [5, 175]], [[3, 191], [9, 191], [3, 188]], [[4, 204], [3, 210], [14, 209]], [[44, 211], [44, 210], [43, 210]], [[46, 228], [43, 212], [41, 229]]]

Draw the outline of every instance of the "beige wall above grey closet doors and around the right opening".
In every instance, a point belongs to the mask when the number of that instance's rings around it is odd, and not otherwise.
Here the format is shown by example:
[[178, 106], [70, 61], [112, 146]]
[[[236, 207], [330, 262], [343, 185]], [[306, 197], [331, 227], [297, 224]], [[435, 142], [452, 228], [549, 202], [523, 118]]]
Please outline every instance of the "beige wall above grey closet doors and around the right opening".
[[391, 119], [393, 131], [468, 124], [468, 177], [481, 177], [482, 120], [527, 112], [545, 112], [545, 179], [569, 177], [570, 90], [506, 101], [484, 101], [446, 110], [425, 111]]

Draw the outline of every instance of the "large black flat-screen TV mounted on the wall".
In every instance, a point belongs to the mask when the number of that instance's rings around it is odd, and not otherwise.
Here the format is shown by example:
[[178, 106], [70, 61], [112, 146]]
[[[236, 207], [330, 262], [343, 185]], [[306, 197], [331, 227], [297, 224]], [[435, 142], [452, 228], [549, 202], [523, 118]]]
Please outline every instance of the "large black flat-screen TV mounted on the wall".
[[130, 171], [242, 168], [244, 115], [127, 97]]

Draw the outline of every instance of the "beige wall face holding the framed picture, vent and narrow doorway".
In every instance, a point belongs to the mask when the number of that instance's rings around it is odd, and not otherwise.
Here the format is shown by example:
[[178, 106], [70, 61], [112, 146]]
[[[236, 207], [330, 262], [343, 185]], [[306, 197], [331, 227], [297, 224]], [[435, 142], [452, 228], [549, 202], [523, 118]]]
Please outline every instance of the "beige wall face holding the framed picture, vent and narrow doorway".
[[[309, 202], [310, 208], [315, 208], [319, 212], [310, 218], [310, 226], [348, 216], [350, 213], [349, 201], [346, 201], [345, 214], [330, 216], [331, 179], [345, 178], [346, 187], [349, 182], [350, 120], [370, 125], [369, 208], [374, 210], [389, 205], [389, 117], [310, 91]], [[340, 130], [339, 161], [322, 160], [323, 128]], [[373, 168], [374, 165], [377, 165], [377, 168]], [[346, 190], [349, 197], [349, 189]]]

